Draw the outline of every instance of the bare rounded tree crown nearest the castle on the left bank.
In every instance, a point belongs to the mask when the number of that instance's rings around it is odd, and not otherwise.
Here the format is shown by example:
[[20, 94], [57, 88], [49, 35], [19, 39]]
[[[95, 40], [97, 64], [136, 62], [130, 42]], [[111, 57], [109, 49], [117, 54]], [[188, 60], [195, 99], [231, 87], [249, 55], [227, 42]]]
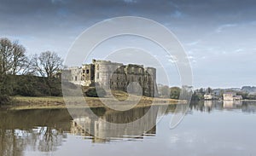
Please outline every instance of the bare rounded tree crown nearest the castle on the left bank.
[[63, 60], [55, 52], [45, 51], [34, 55], [32, 65], [42, 77], [53, 78], [62, 67]]

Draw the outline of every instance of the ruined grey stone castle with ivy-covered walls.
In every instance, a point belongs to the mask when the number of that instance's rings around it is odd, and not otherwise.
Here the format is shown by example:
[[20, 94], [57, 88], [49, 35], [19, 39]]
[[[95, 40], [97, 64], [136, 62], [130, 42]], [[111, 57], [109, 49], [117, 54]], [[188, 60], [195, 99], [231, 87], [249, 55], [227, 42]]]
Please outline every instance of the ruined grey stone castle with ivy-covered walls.
[[158, 95], [154, 67], [93, 60], [81, 67], [69, 67], [64, 72], [64, 79], [73, 84], [88, 87], [99, 84], [105, 89], [127, 91], [127, 86], [136, 82], [142, 87], [143, 95]]

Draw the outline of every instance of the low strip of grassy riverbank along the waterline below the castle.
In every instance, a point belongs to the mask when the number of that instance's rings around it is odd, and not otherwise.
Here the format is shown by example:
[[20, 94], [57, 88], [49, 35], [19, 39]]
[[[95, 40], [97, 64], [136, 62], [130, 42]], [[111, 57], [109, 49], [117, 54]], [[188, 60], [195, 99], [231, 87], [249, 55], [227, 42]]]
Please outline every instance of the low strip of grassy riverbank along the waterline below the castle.
[[[75, 99], [75, 97], [74, 97]], [[102, 101], [100, 101], [97, 97], [85, 97], [86, 104], [80, 103], [72, 103], [68, 105], [68, 107], [104, 107]], [[105, 97], [104, 101], [108, 101], [108, 103], [116, 104], [116, 101], [113, 101], [112, 98]], [[153, 102], [154, 101], [154, 102]], [[129, 103], [129, 101], [127, 102]], [[186, 101], [178, 101], [173, 99], [164, 99], [164, 98], [153, 98], [143, 96], [141, 101], [138, 102], [136, 107], [149, 107], [154, 105], [172, 105], [177, 103], [186, 103]], [[47, 96], [47, 97], [26, 97], [26, 96], [15, 96], [13, 97], [13, 104], [4, 106], [9, 110], [27, 110], [27, 109], [60, 109], [67, 108], [63, 97], [61, 96]]]

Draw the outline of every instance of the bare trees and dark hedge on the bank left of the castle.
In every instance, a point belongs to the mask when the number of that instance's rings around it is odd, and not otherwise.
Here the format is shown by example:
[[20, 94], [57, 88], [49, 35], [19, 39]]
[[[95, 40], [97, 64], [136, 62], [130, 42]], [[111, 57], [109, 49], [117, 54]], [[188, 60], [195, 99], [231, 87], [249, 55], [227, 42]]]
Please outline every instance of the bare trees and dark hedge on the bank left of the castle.
[[0, 104], [10, 95], [61, 95], [61, 80], [55, 75], [62, 63], [55, 52], [28, 56], [17, 41], [0, 38]]

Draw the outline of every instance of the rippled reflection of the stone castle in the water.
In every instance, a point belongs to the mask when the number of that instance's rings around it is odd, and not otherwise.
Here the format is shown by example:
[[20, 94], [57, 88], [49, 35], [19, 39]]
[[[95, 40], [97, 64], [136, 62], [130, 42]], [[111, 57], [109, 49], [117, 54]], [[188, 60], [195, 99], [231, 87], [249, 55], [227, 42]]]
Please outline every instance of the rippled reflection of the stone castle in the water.
[[[161, 108], [139, 107], [125, 112], [98, 108], [99, 112], [95, 113], [100, 114], [99, 118], [87, 115], [73, 118], [70, 132], [77, 136], [87, 136], [86, 138], [91, 139], [92, 142], [109, 142], [118, 138], [136, 140], [143, 139], [144, 136], [155, 136], [157, 118], [166, 113], [166, 109]], [[168, 111], [173, 112], [174, 108], [169, 107]], [[143, 117], [144, 120], [139, 120]], [[106, 121], [113, 124], [106, 124]], [[138, 135], [138, 130], [142, 130], [143, 135]], [[92, 137], [92, 135], [96, 137]]]

